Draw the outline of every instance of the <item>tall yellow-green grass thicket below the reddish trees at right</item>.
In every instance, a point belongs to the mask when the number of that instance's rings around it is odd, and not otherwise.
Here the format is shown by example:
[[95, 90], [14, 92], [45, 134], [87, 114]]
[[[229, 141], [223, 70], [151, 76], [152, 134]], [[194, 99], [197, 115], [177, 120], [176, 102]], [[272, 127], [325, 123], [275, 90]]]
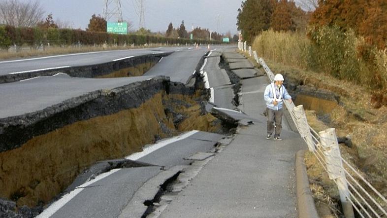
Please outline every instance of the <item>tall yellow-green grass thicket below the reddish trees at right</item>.
[[312, 37], [318, 45], [305, 33], [268, 30], [256, 37], [252, 47], [258, 56], [279, 64], [331, 74], [371, 90], [387, 90], [387, 50], [372, 50], [374, 59], [366, 62], [358, 51], [365, 41], [353, 31], [324, 27]]

